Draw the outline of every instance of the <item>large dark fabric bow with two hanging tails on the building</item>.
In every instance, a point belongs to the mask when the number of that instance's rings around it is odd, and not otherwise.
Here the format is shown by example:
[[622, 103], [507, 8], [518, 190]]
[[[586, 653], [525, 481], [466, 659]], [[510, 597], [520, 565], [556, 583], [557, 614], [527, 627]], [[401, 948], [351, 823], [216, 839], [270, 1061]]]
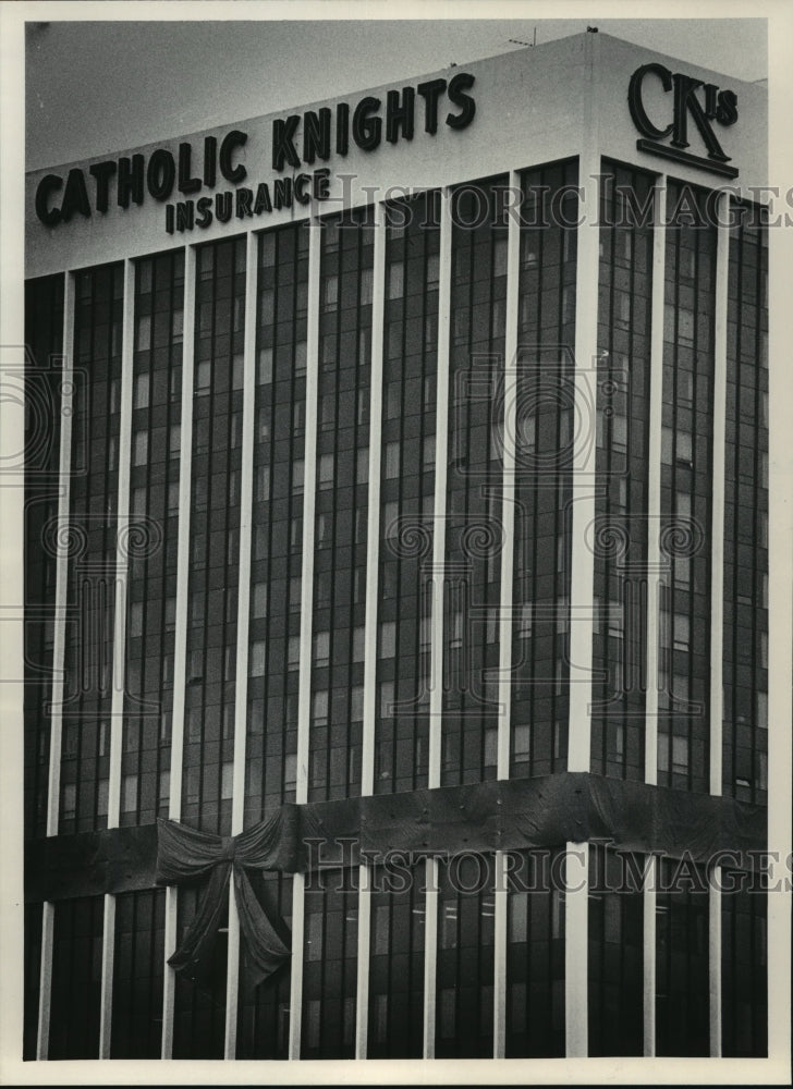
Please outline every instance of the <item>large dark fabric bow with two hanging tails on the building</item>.
[[193, 981], [206, 975], [232, 872], [254, 987], [288, 959], [289, 946], [259, 904], [247, 871], [294, 869], [291, 841], [295, 819], [290, 807], [283, 807], [269, 821], [232, 836], [202, 832], [173, 820], [158, 820], [157, 883], [180, 884], [209, 876], [195, 918], [182, 944], [169, 958], [175, 971]]

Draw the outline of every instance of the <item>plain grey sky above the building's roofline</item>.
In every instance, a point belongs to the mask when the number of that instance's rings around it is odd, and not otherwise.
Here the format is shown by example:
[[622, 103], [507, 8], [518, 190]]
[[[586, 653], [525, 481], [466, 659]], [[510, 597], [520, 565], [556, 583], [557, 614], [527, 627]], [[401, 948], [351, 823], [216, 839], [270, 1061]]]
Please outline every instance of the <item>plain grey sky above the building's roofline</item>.
[[[195, 4], [86, 5], [107, 21], [70, 22], [83, 5], [46, 5], [56, 16], [33, 21], [27, 4], [26, 169], [54, 166], [172, 138], [215, 125], [410, 78], [535, 41], [580, 34], [595, 25], [615, 37], [745, 81], [767, 71], [762, 19], [597, 19], [594, 4], [578, 4], [576, 19], [357, 19], [388, 13], [377, 3], [314, 4], [322, 20], [110, 22], [121, 9], [164, 11], [171, 20]], [[300, 2], [290, 14], [306, 11]], [[632, 11], [636, 3], [630, 5]], [[222, 8], [198, 5], [213, 15]], [[225, 4], [230, 13], [267, 14], [268, 5]], [[613, 8], [613, 5], [612, 5]], [[284, 11], [284, 8], [280, 9]], [[428, 3], [417, 10], [434, 14]], [[444, 11], [472, 11], [465, 0]], [[501, 12], [502, 5], [477, 12]], [[515, 10], [514, 5], [511, 10]], [[523, 3], [521, 11], [548, 11]], [[654, 3], [647, 11], [658, 11]], [[678, 9], [681, 10], [680, 8]], [[692, 5], [683, 11], [691, 12]], [[722, 3], [709, 11], [720, 14]], [[744, 9], [751, 10], [751, 9]], [[586, 14], [589, 11], [593, 14]], [[107, 12], [107, 14], [105, 14]], [[329, 21], [327, 14], [344, 16]]]

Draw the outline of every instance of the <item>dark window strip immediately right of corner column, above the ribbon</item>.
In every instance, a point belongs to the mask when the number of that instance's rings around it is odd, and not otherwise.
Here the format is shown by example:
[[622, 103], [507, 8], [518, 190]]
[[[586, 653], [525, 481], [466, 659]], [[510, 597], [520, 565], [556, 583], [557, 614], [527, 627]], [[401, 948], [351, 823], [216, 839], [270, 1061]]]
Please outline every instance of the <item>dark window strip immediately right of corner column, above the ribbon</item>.
[[[600, 183], [591, 770], [644, 780], [647, 469], [654, 179], [606, 163]], [[603, 547], [597, 547], [602, 541]], [[617, 541], [617, 548], [613, 542]], [[654, 576], [655, 577], [655, 576]], [[609, 1045], [609, 1044], [606, 1044]], [[629, 1052], [625, 1052], [627, 1054]]]

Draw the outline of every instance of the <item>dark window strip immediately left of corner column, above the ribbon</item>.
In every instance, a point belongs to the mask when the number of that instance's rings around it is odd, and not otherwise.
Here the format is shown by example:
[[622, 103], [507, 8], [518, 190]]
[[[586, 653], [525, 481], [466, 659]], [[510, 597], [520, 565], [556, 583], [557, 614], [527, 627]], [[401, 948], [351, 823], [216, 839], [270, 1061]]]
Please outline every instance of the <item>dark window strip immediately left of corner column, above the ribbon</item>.
[[510, 774], [568, 761], [575, 161], [521, 175]]

